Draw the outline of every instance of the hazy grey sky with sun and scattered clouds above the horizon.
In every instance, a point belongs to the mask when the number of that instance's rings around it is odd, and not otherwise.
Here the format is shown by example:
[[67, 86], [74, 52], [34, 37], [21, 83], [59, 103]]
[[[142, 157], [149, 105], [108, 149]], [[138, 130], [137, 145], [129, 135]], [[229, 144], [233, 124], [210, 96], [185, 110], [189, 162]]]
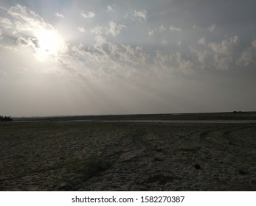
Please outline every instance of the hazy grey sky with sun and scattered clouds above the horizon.
[[0, 115], [256, 110], [255, 0], [1, 0]]

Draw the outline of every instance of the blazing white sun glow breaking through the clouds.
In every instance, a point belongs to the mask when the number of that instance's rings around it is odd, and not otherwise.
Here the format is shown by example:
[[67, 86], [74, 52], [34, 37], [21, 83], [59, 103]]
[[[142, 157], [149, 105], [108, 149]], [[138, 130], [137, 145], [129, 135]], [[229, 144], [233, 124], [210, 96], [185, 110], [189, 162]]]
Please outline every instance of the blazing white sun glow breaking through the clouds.
[[45, 60], [49, 55], [57, 56], [66, 50], [63, 38], [54, 30], [40, 30], [35, 33], [35, 37], [38, 39], [38, 60]]

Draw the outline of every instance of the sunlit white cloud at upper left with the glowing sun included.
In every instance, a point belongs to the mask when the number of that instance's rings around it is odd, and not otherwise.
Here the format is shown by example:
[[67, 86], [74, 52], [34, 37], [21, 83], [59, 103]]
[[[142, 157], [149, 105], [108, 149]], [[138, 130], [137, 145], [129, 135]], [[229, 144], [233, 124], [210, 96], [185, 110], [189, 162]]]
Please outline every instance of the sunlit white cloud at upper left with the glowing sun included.
[[[12, 35], [10, 33], [5, 35], [4, 33], [4, 38], [5, 36], [7, 37], [4, 43], [7, 46], [14, 49], [21, 49], [21, 46], [26, 46], [28, 48], [25, 50], [31, 51], [31, 54], [38, 60], [43, 60], [45, 57], [49, 57], [49, 60], [52, 60], [52, 58], [66, 52], [67, 46], [64, 40], [61, 40], [55, 28], [46, 23], [37, 13], [19, 4], [8, 7], [6, 13], [9, 15], [9, 21], [4, 18], [1, 19], [1, 23], [4, 23], [3, 28], [9, 28], [12, 25], [12, 31], [10, 31]], [[1, 32], [6, 31], [1, 30]], [[52, 49], [49, 49], [51, 46]], [[56, 51], [54, 54], [53, 50]]]

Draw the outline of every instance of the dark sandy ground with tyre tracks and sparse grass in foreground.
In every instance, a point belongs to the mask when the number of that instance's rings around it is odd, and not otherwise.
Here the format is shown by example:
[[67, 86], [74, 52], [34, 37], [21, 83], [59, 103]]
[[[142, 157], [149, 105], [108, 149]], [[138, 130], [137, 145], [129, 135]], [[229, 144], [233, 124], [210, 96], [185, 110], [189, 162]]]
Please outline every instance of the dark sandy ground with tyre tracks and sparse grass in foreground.
[[256, 191], [254, 123], [11, 122], [0, 141], [1, 191]]

